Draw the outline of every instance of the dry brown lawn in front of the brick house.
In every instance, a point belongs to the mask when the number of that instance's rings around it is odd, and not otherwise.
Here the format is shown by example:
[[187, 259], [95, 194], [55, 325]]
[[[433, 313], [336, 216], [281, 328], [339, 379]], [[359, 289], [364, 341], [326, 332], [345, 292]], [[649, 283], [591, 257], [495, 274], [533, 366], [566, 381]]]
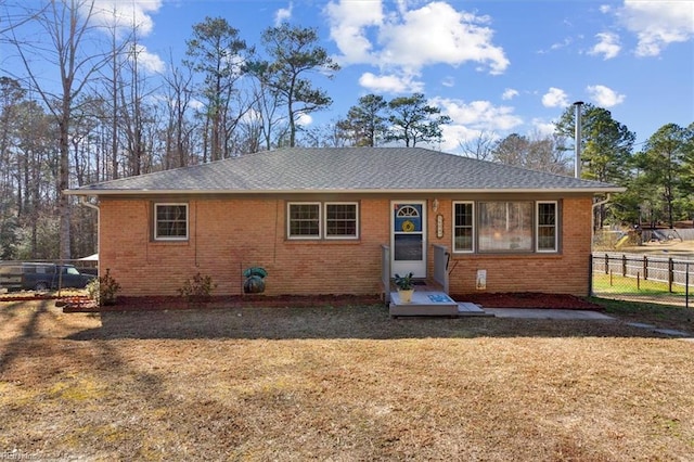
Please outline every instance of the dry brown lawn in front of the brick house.
[[[0, 304], [0, 455], [692, 460], [694, 343], [620, 321]], [[15, 451], [15, 452], [12, 452]]]

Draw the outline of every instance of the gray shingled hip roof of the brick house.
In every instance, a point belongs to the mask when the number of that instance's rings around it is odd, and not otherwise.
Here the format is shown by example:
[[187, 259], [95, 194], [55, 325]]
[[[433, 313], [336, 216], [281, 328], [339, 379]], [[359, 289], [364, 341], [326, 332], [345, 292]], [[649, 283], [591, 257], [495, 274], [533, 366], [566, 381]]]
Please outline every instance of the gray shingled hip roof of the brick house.
[[282, 149], [89, 184], [69, 194], [618, 192], [614, 184], [421, 147]]

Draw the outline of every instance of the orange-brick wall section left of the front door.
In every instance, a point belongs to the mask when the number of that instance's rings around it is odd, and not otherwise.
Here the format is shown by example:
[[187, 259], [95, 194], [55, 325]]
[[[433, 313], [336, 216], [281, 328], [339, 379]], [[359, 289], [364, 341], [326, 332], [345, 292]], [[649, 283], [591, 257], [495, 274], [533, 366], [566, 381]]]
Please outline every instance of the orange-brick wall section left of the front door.
[[[162, 201], [164, 202], [164, 201]], [[177, 295], [195, 273], [215, 294], [240, 294], [242, 272], [264, 267], [266, 294], [377, 294], [381, 245], [388, 242], [389, 202], [361, 201], [359, 241], [285, 240], [286, 203], [191, 200], [190, 239], [152, 240], [150, 201], [101, 201], [100, 267], [123, 295]]]

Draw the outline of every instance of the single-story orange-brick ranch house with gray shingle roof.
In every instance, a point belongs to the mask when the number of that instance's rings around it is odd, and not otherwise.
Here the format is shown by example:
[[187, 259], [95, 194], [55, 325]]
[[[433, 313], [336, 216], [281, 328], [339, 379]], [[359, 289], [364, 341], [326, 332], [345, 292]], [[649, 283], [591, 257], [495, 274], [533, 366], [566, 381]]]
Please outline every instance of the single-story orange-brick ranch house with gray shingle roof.
[[444, 271], [450, 294], [586, 296], [593, 198], [620, 191], [419, 147], [344, 147], [66, 193], [98, 200], [100, 270], [127, 296], [177, 295], [197, 272], [216, 295], [239, 295], [255, 266], [268, 271], [266, 295], [375, 295], [395, 273]]

